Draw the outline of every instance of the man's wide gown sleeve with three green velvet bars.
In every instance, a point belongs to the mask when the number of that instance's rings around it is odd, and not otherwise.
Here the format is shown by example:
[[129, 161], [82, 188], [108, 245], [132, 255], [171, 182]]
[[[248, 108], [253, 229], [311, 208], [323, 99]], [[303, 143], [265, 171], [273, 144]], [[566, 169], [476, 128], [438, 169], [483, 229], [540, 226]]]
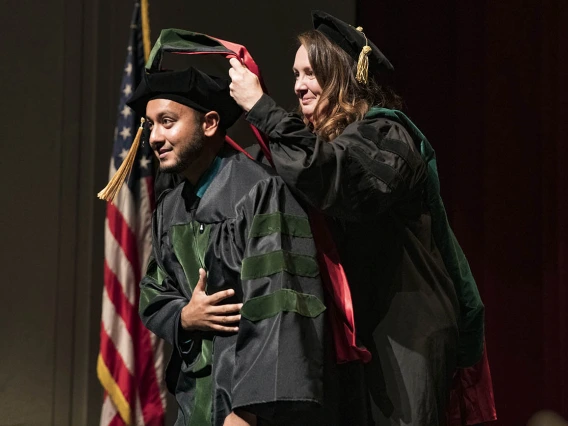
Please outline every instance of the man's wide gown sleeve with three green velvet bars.
[[[323, 402], [324, 315], [310, 316], [290, 309], [292, 305], [280, 305], [272, 311], [269, 309], [274, 308], [273, 305], [263, 306], [265, 301], [282, 301], [282, 294], [323, 302], [316, 249], [311, 233], [292, 229], [297, 221], [307, 224], [308, 219], [279, 177], [259, 182], [242, 200], [239, 210], [246, 223], [246, 244], [242, 272], [244, 306], [235, 352], [233, 409], [243, 408], [276, 424], [282, 413], [281, 405], [288, 407], [287, 404], [293, 403], [300, 413]], [[253, 225], [259, 224], [259, 219], [280, 214], [291, 218], [289, 225], [282, 222], [281, 227]], [[273, 254], [282, 252], [287, 253], [284, 260], [271, 264]], [[302, 265], [298, 266], [296, 256], [312, 259], [315, 273], [313, 269], [306, 271]], [[247, 266], [251, 261], [251, 265], [256, 265], [253, 269]], [[266, 309], [264, 315], [247, 318], [245, 312], [251, 304], [261, 311]]]

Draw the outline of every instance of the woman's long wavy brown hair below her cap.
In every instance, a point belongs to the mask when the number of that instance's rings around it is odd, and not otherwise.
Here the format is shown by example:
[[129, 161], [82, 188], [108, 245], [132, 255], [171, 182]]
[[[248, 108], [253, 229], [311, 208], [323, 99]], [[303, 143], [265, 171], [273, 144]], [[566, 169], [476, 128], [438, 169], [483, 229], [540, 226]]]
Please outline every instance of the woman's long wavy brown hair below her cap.
[[355, 79], [355, 60], [319, 31], [307, 31], [300, 34], [298, 40], [306, 48], [322, 88], [312, 123], [304, 121], [324, 140], [335, 139], [349, 124], [361, 120], [374, 105], [401, 108], [400, 97], [389, 88], [379, 86], [373, 78], [368, 84], [359, 83]]

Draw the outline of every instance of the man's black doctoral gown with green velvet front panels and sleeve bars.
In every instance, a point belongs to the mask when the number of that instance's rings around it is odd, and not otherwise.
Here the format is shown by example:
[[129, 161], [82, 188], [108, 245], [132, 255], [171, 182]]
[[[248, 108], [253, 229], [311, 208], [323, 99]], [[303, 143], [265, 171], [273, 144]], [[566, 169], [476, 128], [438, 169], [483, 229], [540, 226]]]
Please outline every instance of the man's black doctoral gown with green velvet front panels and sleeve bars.
[[[197, 187], [184, 180], [163, 193], [140, 316], [173, 345], [166, 382], [176, 425], [221, 426], [236, 408], [259, 425], [327, 424], [315, 255], [304, 209], [280, 177], [241, 153], [225, 150]], [[238, 333], [181, 328], [200, 267], [208, 294], [233, 288], [225, 303], [244, 303]]]

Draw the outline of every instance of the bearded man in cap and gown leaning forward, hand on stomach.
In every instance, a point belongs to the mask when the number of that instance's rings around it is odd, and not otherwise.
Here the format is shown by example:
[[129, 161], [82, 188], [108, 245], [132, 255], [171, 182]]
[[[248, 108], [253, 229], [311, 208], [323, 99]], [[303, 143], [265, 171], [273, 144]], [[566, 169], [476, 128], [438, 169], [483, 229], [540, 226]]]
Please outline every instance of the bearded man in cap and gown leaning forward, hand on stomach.
[[[241, 114], [228, 82], [195, 68], [149, 73], [129, 106], [147, 117], [160, 170], [183, 177], [158, 201], [140, 294], [142, 321], [173, 345], [176, 425], [329, 424], [308, 218], [280, 177], [224, 144]], [[194, 321], [203, 288], [227, 307], [219, 331]]]

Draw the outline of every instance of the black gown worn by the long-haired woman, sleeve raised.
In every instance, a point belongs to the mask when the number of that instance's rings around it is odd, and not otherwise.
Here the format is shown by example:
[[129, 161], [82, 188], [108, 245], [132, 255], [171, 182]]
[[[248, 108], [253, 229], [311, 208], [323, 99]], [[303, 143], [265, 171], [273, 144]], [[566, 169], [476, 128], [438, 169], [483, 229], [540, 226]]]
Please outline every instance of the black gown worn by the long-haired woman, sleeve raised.
[[325, 142], [267, 95], [247, 120], [269, 136], [275, 168], [293, 192], [327, 215], [357, 337], [373, 354], [359, 369], [338, 367], [350, 379], [345, 426], [445, 424], [459, 307], [432, 236], [419, 147], [384, 117]]

